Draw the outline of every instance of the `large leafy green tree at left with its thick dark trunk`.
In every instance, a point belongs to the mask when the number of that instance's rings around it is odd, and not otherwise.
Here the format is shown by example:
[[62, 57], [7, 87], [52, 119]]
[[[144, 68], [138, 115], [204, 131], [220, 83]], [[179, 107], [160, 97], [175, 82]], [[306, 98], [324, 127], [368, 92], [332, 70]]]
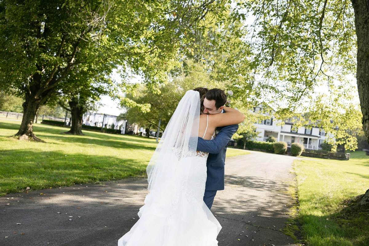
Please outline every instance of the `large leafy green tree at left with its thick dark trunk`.
[[32, 132], [37, 109], [57, 99], [76, 65], [98, 67], [101, 76], [119, 66], [124, 75], [133, 71], [150, 83], [160, 81], [182, 49], [179, 44], [186, 47], [192, 42], [186, 34], [201, 31], [197, 22], [227, 4], [214, 0], [0, 1], [1, 87], [25, 97], [16, 135], [40, 140]]

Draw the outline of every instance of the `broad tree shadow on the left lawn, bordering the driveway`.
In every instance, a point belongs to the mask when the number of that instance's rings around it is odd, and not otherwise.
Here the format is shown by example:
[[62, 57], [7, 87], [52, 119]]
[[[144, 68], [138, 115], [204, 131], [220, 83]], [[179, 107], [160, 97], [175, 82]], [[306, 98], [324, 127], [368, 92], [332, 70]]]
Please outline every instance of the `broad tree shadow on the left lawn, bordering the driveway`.
[[112, 156], [68, 154], [62, 151], [3, 150], [0, 195], [73, 183], [99, 183], [146, 173], [147, 162]]

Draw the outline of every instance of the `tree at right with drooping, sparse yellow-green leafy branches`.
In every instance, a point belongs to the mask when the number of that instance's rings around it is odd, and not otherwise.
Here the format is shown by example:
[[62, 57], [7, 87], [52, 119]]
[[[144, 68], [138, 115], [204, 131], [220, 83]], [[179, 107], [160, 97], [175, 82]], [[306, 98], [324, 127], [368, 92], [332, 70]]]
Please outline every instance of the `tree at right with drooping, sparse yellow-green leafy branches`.
[[[232, 18], [249, 23], [244, 39], [252, 46], [253, 80], [265, 88], [265, 101], [278, 109], [277, 118], [295, 116], [298, 125], [317, 124], [351, 150], [356, 138], [349, 131], [360, 125], [369, 142], [368, 13], [368, 0], [236, 4]], [[237, 86], [234, 90], [243, 93]], [[299, 117], [303, 112], [309, 117]], [[369, 192], [363, 201], [368, 203]]]

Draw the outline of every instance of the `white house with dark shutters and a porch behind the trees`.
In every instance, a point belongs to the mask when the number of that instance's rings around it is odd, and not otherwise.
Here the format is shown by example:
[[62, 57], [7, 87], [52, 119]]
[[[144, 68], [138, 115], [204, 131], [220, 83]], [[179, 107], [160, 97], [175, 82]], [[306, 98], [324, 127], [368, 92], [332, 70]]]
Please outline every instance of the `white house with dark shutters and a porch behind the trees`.
[[[258, 112], [259, 110], [260, 107], [254, 108], [254, 112]], [[286, 142], [288, 147], [291, 146], [291, 143], [301, 143], [305, 149], [322, 149], [321, 145], [326, 138], [326, 133], [323, 129], [318, 127], [300, 127], [296, 131], [292, 129], [293, 123], [290, 120], [284, 121], [283, 126], [277, 125], [280, 122], [273, 115], [270, 115], [270, 119], [255, 123], [256, 132], [260, 132], [255, 140], [266, 141], [269, 136], [273, 136], [277, 141]]]

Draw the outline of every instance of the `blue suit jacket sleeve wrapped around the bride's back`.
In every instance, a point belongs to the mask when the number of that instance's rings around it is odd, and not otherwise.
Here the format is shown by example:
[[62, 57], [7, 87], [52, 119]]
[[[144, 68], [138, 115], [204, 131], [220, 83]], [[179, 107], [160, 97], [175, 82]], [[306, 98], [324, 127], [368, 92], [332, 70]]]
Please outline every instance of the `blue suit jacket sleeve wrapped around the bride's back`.
[[197, 139], [197, 150], [217, 154], [231, 141], [233, 134], [237, 132], [238, 125], [223, 127], [213, 140]]

